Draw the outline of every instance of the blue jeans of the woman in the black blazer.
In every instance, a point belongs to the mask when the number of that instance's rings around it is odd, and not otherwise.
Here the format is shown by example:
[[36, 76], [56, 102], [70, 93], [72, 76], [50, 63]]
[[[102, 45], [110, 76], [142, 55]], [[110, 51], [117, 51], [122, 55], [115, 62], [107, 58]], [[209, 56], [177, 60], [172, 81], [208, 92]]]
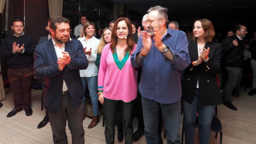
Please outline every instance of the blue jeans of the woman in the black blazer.
[[212, 116], [216, 105], [202, 106], [199, 103], [198, 96], [199, 92], [197, 89], [191, 104], [187, 101], [182, 101], [186, 144], [194, 143], [197, 106], [199, 141], [202, 144], [207, 144], [210, 141]]

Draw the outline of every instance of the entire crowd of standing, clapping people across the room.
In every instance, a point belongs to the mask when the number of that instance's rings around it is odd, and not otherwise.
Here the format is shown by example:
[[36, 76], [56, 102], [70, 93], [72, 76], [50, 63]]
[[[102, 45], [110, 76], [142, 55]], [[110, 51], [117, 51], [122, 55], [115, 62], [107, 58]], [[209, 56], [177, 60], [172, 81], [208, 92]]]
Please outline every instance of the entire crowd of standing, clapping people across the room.
[[[121, 17], [96, 30], [82, 15], [73, 35], [69, 19], [55, 17], [46, 21], [49, 35], [36, 44], [23, 22], [14, 19], [14, 33], [0, 49], [7, 59], [14, 100], [7, 117], [23, 109], [27, 116], [33, 114], [31, 82], [37, 78], [42, 81], [46, 109], [37, 127], [50, 122], [54, 143], [67, 143], [67, 121], [72, 142], [85, 142], [86, 87], [93, 107], [88, 128], [99, 122], [100, 102], [106, 143], [114, 143], [115, 125], [119, 142], [132, 143], [145, 134], [147, 143], [163, 143], [163, 122], [167, 143], [180, 143], [182, 112], [186, 143], [194, 142], [197, 114], [199, 141], [209, 143], [215, 107], [223, 103], [237, 110], [231, 95], [238, 97], [244, 69], [253, 74], [248, 95], [256, 94], [256, 33], [245, 42], [247, 29], [237, 25], [220, 41], [207, 19], [195, 20], [193, 33], [184, 33], [177, 21], [169, 22], [162, 6], [151, 7], [141, 25]], [[133, 133], [134, 117], [138, 129]]]

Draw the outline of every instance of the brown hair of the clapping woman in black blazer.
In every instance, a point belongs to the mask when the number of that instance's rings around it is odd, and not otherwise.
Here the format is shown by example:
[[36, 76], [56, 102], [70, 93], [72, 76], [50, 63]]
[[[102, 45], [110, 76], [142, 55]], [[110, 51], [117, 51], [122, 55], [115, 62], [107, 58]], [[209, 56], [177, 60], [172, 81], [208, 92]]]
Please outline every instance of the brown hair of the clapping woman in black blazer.
[[[198, 19], [198, 20], [195, 20], [195, 22], [196, 21], [200, 21], [202, 24], [202, 28], [204, 29], [204, 36], [203, 36], [204, 41], [206, 43], [212, 42], [212, 39], [215, 36], [215, 31], [214, 31], [212, 22], [207, 19]], [[196, 40], [196, 37], [195, 37], [195, 35], [193, 35], [193, 41], [195, 41], [195, 40]]]

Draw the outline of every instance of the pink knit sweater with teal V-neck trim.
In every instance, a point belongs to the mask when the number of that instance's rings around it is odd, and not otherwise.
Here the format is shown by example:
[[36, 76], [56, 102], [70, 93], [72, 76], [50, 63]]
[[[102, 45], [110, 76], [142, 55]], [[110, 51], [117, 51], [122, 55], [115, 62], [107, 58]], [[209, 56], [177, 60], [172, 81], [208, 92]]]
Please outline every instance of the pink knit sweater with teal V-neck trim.
[[[137, 45], [134, 45], [135, 51]], [[122, 61], [117, 54], [113, 54], [110, 44], [107, 44], [101, 53], [98, 75], [98, 89], [103, 91], [107, 99], [130, 102], [137, 97], [138, 71], [132, 67], [129, 53]]]

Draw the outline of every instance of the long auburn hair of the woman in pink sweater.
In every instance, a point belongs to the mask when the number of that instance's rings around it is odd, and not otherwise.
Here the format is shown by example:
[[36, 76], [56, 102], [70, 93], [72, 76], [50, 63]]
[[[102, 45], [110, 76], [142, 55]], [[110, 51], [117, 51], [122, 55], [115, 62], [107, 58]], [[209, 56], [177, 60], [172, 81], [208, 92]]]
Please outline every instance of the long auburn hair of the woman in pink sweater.
[[131, 54], [132, 50], [133, 50], [133, 47], [134, 47], [134, 44], [135, 44], [135, 42], [132, 39], [132, 23], [128, 18], [124, 18], [124, 17], [121, 17], [121, 18], [117, 19], [116, 22], [115, 22], [115, 25], [113, 27], [112, 35], [111, 35], [111, 45], [110, 45], [111, 52], [112, 53], [116, 52], [116, 45], [117, 45], [116, 31], [117, 31], [117, 23], [119, 21], [124, 21], [126, 23], [127, 27], [128, 27], [129, 35], [127, 36], [127, 40], [126, 40], [127, 47], [124, 50], [124, 53], [126, 53], [128, 51], [129, 54]]

